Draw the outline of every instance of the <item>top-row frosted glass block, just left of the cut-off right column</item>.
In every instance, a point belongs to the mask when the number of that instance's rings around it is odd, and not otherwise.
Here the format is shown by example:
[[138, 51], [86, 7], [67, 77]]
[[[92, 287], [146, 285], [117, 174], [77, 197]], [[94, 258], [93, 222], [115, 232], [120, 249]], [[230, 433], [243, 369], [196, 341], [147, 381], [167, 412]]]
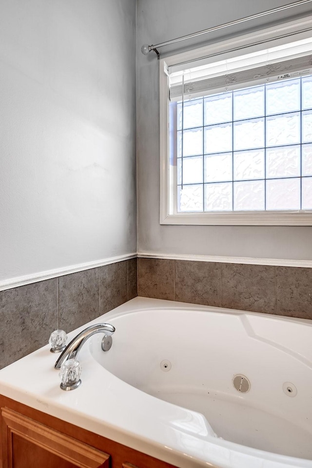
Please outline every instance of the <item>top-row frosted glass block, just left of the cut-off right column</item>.
[[300, 110], [300, 79], [268, 84], [266, 92], [267, 115]]

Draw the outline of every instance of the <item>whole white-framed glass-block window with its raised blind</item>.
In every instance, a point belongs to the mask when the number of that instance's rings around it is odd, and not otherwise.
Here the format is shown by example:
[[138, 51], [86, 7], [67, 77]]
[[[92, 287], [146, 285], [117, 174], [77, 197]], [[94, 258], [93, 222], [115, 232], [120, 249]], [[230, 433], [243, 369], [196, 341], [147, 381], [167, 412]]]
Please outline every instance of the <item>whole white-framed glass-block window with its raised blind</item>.
[[163, 60], [161, 223], [312, 224], [310, 35]]

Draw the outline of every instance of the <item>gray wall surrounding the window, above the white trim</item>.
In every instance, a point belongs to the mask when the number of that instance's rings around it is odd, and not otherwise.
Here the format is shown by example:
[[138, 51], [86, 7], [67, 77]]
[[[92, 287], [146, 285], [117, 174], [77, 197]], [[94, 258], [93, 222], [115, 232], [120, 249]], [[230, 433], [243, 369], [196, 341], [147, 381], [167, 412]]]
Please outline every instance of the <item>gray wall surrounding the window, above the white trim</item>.
[[[312, 227], [160, 226], [159, 225], [159, 92], [155, 53], [141, 54], [144, 43], [157, 44], [260, 11], [285, 0], [138, 0], [137, 1], [137, 180], [138, 252], [312, 259]], [[281, 21], [311, 13], [311, 4], [275, 14]], [[268, 18], [250, 28], [268, 26]], [[271, 24], [270, 24], [271, 25]], [[231, 29], [240, 34], [246, 24]], [[222, 37], [209, 36], [209, 40]], [[193, 41], [194, 42], [194, 41]], [[188, 47], [190, 42], [187, 43]], [[201, 42], [200, 45], [205, 45]], [[183, 48], [161, 49], [163, 57]]]

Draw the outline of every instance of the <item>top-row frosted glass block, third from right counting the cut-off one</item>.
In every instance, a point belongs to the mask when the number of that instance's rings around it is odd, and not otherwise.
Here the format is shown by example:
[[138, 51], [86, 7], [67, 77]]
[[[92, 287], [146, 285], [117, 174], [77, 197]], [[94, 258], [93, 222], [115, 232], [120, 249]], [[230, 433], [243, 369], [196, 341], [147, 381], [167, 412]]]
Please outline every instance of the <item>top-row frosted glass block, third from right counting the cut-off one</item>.
[[234, 120], [264, 116], [264, 86], [233, 93]]

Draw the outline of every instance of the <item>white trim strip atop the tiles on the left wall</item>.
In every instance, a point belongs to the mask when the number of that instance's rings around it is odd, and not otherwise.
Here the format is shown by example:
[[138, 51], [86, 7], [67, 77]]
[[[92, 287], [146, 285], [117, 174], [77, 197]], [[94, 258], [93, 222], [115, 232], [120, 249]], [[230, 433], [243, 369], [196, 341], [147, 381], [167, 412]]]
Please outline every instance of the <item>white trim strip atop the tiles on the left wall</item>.
[[6, 291], [8, 289], [17, 288], [26, 284], [37, 283], [46, 279], [64, 276], [65, 274], [77, 273], [83, 270], [90, 270], [91, 268], [102, 267], [104, 265], [109, 265], [110, 263], [130, 260], [131, 258], [137, 258], [137, 253], [117, 255], [115, 257], [103, 258], [94, 262], [78, 263], [77, 265], [70, 265], [68, 267], [58, 268], [55, 270], [47, 270], [45, 272], [32, 273], [23, 276], [17, 276], [15, 278], [9, 278], [0, 281], [0, 291]]

